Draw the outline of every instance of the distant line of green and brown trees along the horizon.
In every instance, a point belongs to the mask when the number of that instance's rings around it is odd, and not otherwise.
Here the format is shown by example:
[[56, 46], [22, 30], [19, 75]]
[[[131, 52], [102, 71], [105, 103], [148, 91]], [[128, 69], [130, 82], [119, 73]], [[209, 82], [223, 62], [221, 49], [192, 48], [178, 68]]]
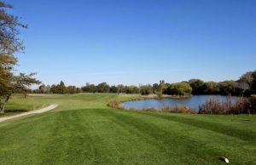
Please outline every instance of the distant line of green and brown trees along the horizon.
[[256, 71], [248, 71], [237, 81], [227, 80], [224, 82], [204, 82], [200, 79], [190, 79], [180, 83], [160, 83], [153, 85], [109, 85], [99, 83], [97, 85], [86, 83], [82, 88], [65, 86], [61, 81], [59, 84], [39, 86], [33, 90], [39, 94], [78, 94], [78, 93], [125, 93], [125, 94], [169, 94], [169, 95], [200, 95], [200, 94], [222, 94], [222, 95], [244, 95], [249, 96], [256, 93]]

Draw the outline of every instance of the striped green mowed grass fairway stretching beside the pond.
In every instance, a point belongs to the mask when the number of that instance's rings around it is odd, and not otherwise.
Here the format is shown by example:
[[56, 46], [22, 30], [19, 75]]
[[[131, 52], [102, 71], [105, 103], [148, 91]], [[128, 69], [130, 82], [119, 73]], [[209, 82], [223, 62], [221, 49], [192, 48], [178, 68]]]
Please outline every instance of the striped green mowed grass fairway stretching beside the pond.
[[43, 114], [0, 122], [0, 164], [256, 163], [256, 117], [117, 110], [128, 94], [15, 96], [9, 109], [58, 104]]

